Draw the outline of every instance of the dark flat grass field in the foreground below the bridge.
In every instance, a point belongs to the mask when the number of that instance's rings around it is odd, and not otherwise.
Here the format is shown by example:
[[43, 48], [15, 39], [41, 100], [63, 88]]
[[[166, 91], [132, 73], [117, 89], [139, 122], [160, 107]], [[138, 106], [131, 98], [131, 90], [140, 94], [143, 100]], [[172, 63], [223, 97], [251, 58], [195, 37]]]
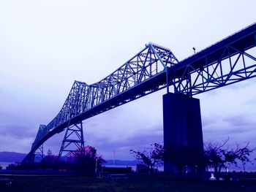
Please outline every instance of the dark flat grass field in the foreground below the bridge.
[[71, 191], [168, 191], [168, 192], [243, 192], [256, 191], [255, 181], [225, 183], [216, 181], [177, 180], [164, 176], [131, 176], [109, 180], [85, 176], [16, 176], [12, 185], [0, 185], [1, 192], [71, 192]]

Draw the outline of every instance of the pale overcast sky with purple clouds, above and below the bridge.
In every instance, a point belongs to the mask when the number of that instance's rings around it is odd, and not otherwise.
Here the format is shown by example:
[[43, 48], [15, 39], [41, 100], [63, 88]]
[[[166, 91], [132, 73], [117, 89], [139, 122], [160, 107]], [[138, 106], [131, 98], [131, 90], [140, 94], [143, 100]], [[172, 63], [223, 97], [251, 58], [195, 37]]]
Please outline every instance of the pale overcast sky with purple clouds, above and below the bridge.
[[[39, 124], [61, 110], [74, 80], [108, 76], [154, 42], [178, 60], [255, 22], [255, 0], [0, 1], [0, 151], [28, 153]], [[200, 99], [205, 142], [256, 147], [256, 80]], [[162, 142], [159, 91], [83, 121], [86, 145], [104, 158]], [[45, 143], [59, 153], [64, 132]]]

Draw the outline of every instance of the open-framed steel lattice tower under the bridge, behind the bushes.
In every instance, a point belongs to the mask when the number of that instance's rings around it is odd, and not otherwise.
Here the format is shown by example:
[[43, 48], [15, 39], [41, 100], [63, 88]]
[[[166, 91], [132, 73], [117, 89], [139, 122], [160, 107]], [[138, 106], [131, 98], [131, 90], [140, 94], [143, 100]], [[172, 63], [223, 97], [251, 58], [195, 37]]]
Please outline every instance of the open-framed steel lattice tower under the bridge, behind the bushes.
[[83, 124], [75, 124], [68, 126], [64, 139], [62, 141], [61, 150], [59, 151], [59, 161], [62, 156], [67, 156], [75, 150], [81, 150], [84, 147], [83, 140]]

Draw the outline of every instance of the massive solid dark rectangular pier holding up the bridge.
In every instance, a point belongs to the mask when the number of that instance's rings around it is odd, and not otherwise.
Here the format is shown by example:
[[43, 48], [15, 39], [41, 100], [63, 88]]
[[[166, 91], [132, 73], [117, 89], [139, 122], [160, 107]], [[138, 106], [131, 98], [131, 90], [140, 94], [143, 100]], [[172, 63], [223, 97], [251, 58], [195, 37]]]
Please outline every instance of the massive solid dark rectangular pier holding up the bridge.
[[163, 96], [165, 172], [203, 169], [203, 132], [200, 101], [167, 93]]

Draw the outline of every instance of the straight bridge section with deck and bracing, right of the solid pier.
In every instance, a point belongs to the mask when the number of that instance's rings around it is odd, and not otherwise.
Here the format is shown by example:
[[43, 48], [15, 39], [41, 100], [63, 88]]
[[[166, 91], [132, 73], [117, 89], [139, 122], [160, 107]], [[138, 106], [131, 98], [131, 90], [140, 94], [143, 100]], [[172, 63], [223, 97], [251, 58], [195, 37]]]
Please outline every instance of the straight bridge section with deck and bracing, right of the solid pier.
[[256, 24], [169, 70], [175, 93], [194, 96], [256, 75]]

